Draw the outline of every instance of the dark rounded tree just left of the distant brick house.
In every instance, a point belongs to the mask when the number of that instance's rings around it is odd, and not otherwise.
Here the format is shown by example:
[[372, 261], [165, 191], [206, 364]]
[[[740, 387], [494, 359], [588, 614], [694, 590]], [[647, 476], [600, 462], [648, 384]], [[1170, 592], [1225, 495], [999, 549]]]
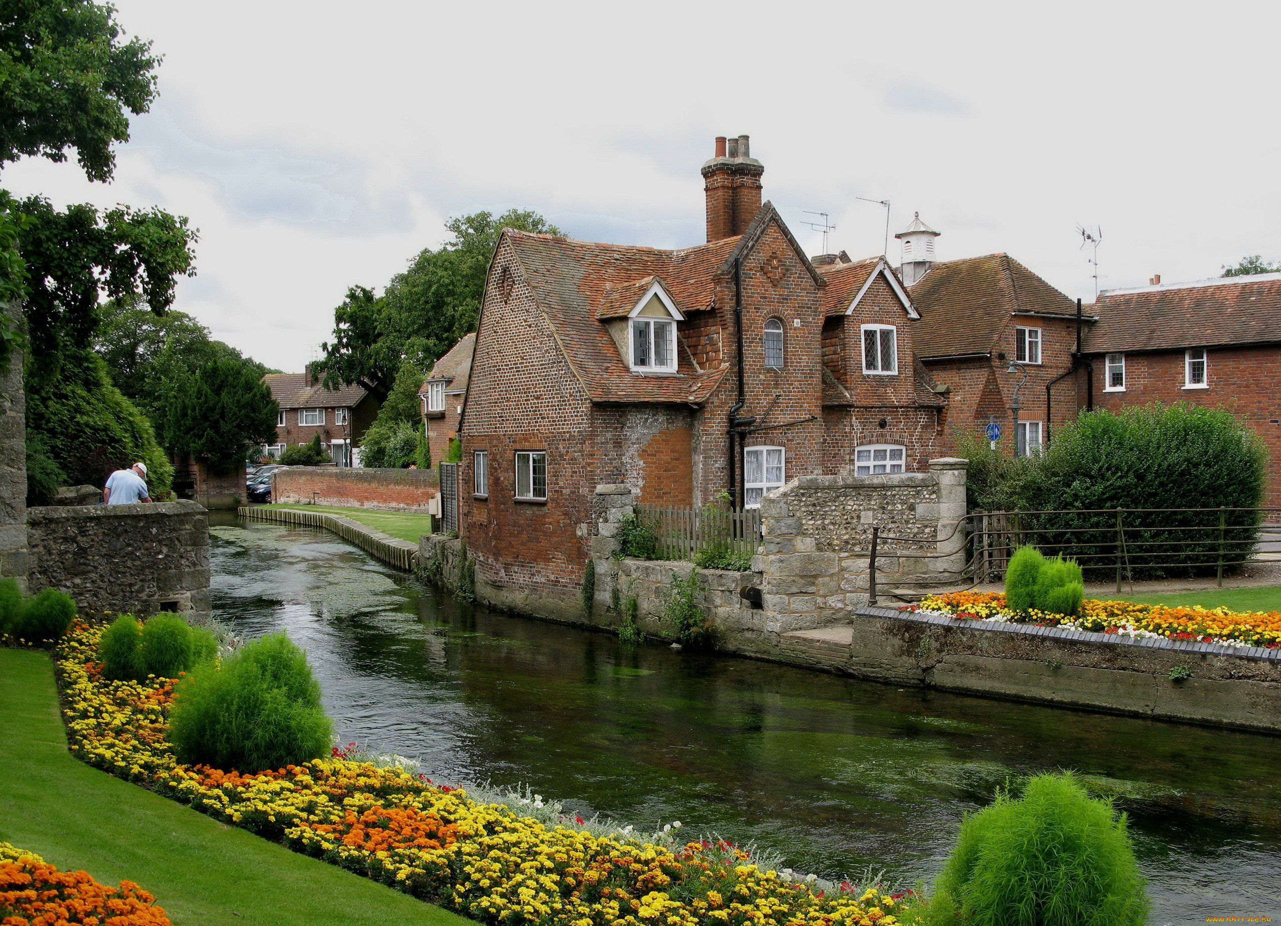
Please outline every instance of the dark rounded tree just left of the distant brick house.
[[256, 366], [218, 357], [188, 374], [160, 419], [165, 446], [222, 475], [245, 465], [249, 444], [274, 442], [279, 406]]

